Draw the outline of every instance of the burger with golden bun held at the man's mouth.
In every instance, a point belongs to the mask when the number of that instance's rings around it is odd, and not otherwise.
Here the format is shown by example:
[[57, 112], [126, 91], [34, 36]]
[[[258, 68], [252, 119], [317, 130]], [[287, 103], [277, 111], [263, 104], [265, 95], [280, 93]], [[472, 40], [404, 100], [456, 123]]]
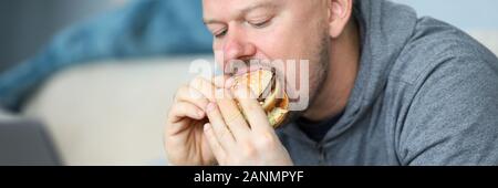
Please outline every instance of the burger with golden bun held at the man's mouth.
[[256, 94], [270, 125], [273, 128], [279, 127], [289, 113], [289, 96], [276, 72], [260, 69], [235, 76], [234, 87], [242, 84], [250, 87], [252, 93]]

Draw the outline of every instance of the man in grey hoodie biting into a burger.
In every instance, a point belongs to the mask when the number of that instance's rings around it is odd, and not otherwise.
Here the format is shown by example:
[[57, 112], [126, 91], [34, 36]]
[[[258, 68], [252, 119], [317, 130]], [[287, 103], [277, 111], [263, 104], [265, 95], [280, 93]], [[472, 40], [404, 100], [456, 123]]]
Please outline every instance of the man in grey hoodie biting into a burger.
[[203, 3], [221, 67], [309, 60], [310, 104], [273, 130], [247, 87], [196, 79], [168, 114], [170, 164], [498, 165], [498, 60], [458, 29], [384, 0]]

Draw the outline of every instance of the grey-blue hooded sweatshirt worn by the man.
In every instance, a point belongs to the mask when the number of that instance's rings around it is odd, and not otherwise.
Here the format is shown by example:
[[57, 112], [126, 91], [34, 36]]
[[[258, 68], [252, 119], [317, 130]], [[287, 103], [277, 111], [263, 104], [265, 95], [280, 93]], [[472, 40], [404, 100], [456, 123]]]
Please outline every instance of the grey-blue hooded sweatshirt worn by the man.
[[295, 165], [498, 165], [498, 60], [463, 31], [357, 0], [359, 75], [320, 142], [277, 130]]

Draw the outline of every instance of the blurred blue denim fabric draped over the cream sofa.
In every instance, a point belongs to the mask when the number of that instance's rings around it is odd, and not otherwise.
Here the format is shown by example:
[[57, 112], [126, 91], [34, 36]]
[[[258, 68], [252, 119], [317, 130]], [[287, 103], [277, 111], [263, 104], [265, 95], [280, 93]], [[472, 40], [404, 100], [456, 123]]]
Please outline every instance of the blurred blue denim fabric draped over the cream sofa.
[[55, 72], [89, 61], [210, 53], [212, 36], [201, 18], [199, 0], [138, 0], [73, 25], [33, 59], [0, 75], [0, 106], [20, 111]]

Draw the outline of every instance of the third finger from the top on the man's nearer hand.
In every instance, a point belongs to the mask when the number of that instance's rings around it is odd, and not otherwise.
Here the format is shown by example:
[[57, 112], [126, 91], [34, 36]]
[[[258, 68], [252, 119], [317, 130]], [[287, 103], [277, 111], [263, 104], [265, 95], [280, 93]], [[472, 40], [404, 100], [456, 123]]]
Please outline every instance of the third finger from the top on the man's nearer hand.
[[206, 107], [206, 114], [209, 118], [209, 123], [215, 130], [215, 135], [219, 140], [221, 147], [225, 150], [230, 150], [235, 145], [235, 138], [228, 129], [225, 121], [219, 112], [218, 106], [215, 103], [209, 103]]

